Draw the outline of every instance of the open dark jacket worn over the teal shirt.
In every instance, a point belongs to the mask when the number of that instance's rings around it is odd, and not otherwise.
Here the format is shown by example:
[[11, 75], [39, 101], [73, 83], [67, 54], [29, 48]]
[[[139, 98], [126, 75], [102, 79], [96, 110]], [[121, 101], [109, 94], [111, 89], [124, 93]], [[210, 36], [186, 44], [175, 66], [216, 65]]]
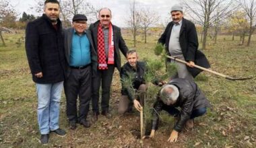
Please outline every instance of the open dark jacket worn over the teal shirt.
[[[90, 50], [91, 50], [91, 65], [92, 65], [92, 77], [96, 75], [97, 71], [97, 53], [94, 48], [94, 44], [92, 41], [92, 36], [90, 30], [86, 30], [86, 36], [90, 42]], [[64, 38], [64, 49], [65, 49], [65, 57], [67, 61], [66, 65], [66, 77], [69, 77], [69, 74], [71, 72], [71, 68], [69, 67], [69, 59], [70, 59], [70, 50], [71, 50], [71, 44], [72, 44], [72, 38], [73, 38], [73, 28], [69, 28], [67, 30], [63, 30], [63, 38]]]

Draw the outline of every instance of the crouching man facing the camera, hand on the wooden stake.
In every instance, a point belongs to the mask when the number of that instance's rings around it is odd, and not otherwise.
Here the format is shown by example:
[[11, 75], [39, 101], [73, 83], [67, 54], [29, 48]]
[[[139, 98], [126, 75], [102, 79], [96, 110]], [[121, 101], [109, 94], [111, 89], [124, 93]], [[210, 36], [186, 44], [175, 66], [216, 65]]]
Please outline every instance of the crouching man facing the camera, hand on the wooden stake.
[[129, 50], [126, 54], [127, 63], [121, 67], [120, 77], [122, 83], [121, 98], [119, 100], [119, 114], [131, 109], [131, 104], [141, 111], [146, 93], [146, 63], [138, 61], [136, 50]]

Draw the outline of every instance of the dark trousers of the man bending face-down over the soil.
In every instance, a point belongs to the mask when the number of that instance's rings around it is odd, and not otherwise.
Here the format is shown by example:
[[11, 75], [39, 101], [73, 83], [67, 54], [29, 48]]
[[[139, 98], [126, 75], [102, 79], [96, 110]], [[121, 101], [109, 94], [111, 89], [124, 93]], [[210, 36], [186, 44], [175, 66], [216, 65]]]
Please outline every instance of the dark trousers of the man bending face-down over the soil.
[[[168, 112], [169, 114], [171, 114], [172, 116], [175, 116], [175, 117], [179, 116], [179, 114], [180, 114], [180, 111], [177, 108], [174, 108], [172, 106], [164, 105], [162, 110], [165, 110], [166, 112]], [[193, 110], [192, 114], [190, 116], [190, 119], [193, 119], [197, 116], [203, 116], [203, 114], [205, 114], [205, 112], [206, 112], [206, 108], [199, 108], [199, 109]]]

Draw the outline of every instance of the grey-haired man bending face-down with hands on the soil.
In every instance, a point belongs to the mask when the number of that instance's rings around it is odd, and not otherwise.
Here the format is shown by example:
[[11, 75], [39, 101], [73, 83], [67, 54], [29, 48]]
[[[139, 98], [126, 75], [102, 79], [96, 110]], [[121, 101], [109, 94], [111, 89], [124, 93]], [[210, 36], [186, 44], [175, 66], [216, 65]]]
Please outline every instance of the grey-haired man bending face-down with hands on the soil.
[[[178, 133], [181, 132], [185, 124], [188, 128], [193, 128], [193, 119], [205, 114], [207, 107], [210, 107], [210, 102], [194, 81], [181, 78], [172, 79], [160, 89], [154, 103], [150, 137], [154, 137], [154, 133], [158, 129], [158, 115], [161, 110], [166, 110], [172, 116], [177, 117], [177, 123], [168, 139], [173, 142], [177, 141]], [[181, 111], [177, 108], [181, 108]]]

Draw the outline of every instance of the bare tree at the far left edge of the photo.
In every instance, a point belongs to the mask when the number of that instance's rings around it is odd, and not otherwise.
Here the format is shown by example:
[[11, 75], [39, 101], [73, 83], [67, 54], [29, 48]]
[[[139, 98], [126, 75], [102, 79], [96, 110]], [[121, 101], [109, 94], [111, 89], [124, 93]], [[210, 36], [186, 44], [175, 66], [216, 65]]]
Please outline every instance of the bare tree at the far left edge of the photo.
[[17, 13], [13, 6], [7, 0], [0, 0], [0, 37], [3, 42], [3, 46], [6, 46], [2, 32], [10, 32], [5, 27], [15, 27], [15, 19]]

